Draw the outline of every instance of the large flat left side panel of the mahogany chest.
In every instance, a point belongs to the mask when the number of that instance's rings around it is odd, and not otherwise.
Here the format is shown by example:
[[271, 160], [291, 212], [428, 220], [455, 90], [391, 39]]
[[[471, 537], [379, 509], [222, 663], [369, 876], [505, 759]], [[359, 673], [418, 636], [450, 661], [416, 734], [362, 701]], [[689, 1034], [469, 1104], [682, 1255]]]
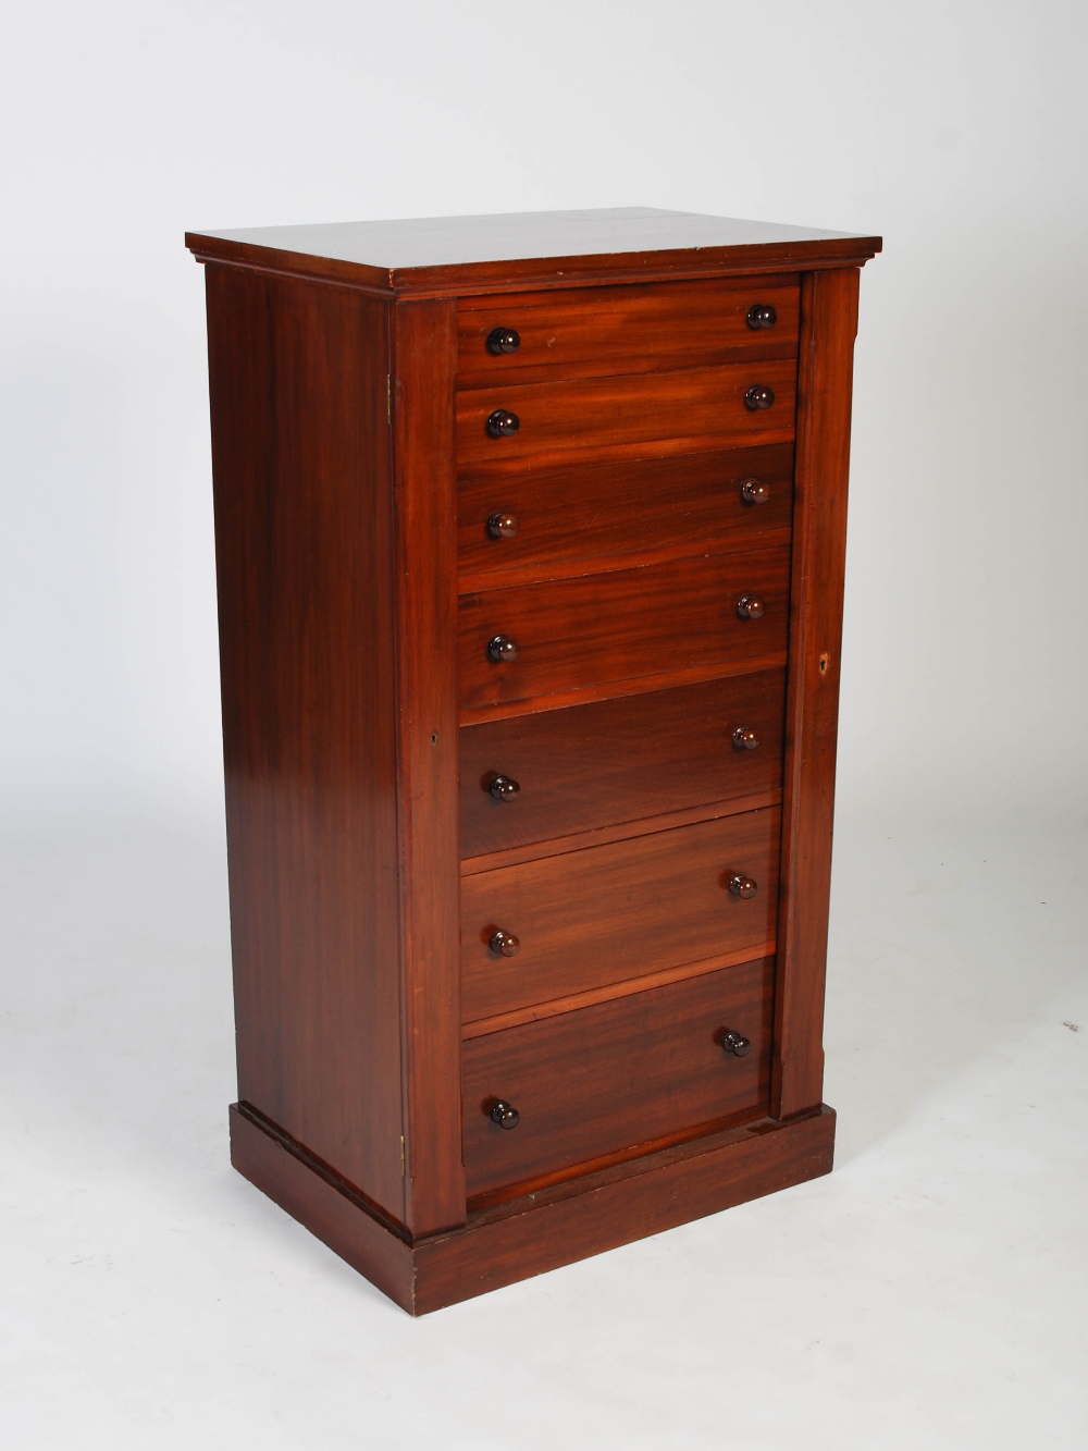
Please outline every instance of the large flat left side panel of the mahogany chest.
[[400, 1220], [387, 306], [206, 281], [239, 1093]]

